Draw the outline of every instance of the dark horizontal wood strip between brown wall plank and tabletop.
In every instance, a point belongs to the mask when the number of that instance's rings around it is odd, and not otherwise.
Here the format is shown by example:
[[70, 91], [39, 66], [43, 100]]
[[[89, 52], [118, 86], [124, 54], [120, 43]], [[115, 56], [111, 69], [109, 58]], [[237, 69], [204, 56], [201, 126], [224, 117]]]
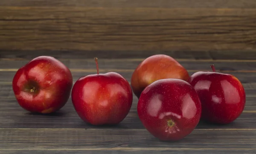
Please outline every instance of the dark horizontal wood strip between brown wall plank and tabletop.
[[127, 59], [127, 58], [147, 58], [154, 54], [166, 54], [177, 59], [240, 59], [240, 60], [255, 60], [256, 52], [254, 51], [234, 51], [234, 50], [208, 50], [208, 51], [194, 51], [191, 50], [147, 50], [145, 51], [115, 51], [115, 50], [36, 50], [31, 52], [30, 50], [0, 50], [0, 58], [12, 58], [12, 59], [32, 59], [37, 56], [53, 56], [61, 59], [93, 59], [98, 57], [99, 59]]

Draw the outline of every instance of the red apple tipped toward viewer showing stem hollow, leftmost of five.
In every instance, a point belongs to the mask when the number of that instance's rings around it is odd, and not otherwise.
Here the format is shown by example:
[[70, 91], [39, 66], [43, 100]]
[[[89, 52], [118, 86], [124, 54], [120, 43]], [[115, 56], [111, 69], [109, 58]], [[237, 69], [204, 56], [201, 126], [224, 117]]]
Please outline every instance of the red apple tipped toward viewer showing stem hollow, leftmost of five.
[[70, 70], [51, 56], [32, 59], [17, 70], [12, 81], [18, 104], [27, 111], [43, 114], [61, 109], [70, 97], [72, 85]]

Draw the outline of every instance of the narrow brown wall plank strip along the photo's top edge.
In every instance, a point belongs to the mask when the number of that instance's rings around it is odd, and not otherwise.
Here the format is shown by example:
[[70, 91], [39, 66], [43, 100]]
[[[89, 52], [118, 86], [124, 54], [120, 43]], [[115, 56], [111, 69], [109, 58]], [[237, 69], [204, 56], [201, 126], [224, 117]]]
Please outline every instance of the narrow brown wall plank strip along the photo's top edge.
[[254, 0], [1, 0], [0, 6], [256, 8]]

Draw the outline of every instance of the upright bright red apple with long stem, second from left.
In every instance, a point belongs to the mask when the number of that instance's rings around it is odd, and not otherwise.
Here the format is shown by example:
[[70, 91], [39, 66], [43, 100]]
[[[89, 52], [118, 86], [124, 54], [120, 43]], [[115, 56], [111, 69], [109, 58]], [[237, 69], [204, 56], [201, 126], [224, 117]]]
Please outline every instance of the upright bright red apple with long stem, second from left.
[[82, 76], [73, 86], [72, 102], [79, 117], [92, 125], [120, 123], [131, 109], [130, 84], [115, 72]]

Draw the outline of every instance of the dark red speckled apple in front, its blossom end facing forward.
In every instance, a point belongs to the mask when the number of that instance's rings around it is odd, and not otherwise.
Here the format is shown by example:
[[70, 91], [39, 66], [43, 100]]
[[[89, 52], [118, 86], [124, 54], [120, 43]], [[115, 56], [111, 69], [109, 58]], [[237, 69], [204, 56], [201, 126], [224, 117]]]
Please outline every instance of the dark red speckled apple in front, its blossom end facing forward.
[[[201, 102], [195, 89], [180, 79], [160, 79], [141, 93], [137, 112], [145, 129], [160, 140], [181, 140], [198, 125]], [[168, 126], [172, 120], [174, 125]]]

